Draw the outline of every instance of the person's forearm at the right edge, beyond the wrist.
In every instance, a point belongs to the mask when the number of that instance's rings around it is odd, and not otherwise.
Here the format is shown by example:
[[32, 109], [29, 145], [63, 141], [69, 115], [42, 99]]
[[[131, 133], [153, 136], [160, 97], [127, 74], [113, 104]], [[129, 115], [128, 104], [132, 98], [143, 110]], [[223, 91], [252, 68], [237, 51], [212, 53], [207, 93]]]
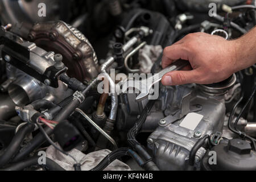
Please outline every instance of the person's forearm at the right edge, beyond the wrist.
[[234, 40], [237, 44], [236, 62], [239, 70], [256, 63], [256, 27], [240, 39]]

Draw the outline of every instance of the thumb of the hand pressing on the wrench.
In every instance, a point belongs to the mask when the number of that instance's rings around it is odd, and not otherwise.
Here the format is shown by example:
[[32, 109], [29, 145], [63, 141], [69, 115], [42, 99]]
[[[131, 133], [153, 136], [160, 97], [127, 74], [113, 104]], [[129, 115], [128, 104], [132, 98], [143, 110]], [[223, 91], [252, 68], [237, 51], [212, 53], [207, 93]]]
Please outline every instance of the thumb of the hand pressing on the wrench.
[[166, 73], [162, 78], [163, 85], [183, 85], [196, 83], [199, 80], [199, 73], [196, 69], [192, 71], [173, 71]]

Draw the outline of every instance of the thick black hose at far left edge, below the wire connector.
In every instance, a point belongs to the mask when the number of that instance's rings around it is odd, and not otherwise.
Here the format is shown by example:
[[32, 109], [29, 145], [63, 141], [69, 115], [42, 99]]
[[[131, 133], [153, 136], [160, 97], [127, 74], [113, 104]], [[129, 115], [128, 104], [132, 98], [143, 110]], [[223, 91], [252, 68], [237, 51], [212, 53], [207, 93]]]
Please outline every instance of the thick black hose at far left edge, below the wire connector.
[[3, 167], [9, 163], [10, 160], [19, 152], [20, 144], [23, 142], [23, 139], [28, 134], [32, 133], [34, 128], [35, 125], [27, 123], [18, 130], [5, 152], [0, 156], [0, 167]]

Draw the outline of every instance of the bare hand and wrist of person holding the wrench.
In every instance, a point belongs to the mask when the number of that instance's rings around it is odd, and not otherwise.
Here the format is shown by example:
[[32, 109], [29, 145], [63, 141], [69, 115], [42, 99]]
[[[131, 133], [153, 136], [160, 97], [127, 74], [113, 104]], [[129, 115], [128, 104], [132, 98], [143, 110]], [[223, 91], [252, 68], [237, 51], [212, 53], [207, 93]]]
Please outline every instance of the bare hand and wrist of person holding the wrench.
[[188, 34], [164, 49], [162, 67], [166, 68], [178, 59], [188, 60], [191, 66], [164, 75], [163, 85], [223, 81], [256, 63], [256, 27], [236, 40], [202, 32]]

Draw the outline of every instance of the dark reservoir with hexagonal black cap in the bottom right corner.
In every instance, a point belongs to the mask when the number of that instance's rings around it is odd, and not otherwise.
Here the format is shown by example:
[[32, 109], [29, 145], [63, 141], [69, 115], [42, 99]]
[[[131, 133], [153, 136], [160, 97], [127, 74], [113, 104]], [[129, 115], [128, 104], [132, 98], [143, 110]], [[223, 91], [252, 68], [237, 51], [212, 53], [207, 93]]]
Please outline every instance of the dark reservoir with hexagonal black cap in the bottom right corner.
[[216, 152], [216, 164], [209, 164], [209, 152], [201, 160], [201, 167], [206, 171], [255, 171], [256, 152], [250, 150], [250, 144], [245, 140], [232, 139], [229, 142], [221, 140], [220, 144], [211, 148]]

